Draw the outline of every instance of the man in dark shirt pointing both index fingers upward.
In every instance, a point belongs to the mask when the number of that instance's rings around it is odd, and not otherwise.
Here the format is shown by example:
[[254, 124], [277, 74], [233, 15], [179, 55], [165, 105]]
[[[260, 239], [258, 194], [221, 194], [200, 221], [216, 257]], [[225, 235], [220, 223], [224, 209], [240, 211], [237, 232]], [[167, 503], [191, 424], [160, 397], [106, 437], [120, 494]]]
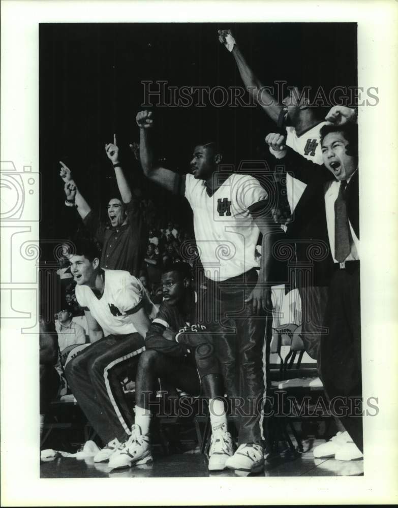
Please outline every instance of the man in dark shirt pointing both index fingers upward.
[[65, 182], [66, 206], [77, 207], [84, 225], [102, 246], [101, 268], [126, 270], [138, 277], [146, 252], [148, 231], [140, 210], [139, 201], [133, 197], [119, 162], [119, 149], [116, 136], [113, 143], [105, 145], [106, 154], [115, 170], [120, 198], [112, 198], [108, 203], [108, 217], [111, 229], [99, 221], [98, 214], [91, 210], [76, 183], [71, 170], [60, 162], [60, 177]]

